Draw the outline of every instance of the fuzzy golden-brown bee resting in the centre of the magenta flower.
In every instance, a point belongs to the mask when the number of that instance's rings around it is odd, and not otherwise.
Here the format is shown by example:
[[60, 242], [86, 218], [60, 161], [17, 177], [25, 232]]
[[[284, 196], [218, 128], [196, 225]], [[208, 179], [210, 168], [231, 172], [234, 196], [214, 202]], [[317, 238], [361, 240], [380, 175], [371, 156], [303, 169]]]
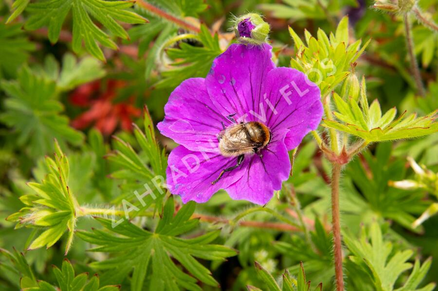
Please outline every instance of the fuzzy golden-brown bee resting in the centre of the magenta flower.
[[271, 131], [263, 123], [258, 121], [237, 123], [233, 118], [234, 115], [236, 114], [228, 116], [228, 119], [235, 123], [232, 126], [225, 128], [222, 122], [223, 130], [220, 131], [218, 140], [220, 153], [226, 157], [237, 156], [237, 164], [222, 170], [219, 177], [211, 182], [212, 185], [216, 184], [225, 172], [233, 171], [240, 166], [245, 154], [259, 153], [272, 139]]

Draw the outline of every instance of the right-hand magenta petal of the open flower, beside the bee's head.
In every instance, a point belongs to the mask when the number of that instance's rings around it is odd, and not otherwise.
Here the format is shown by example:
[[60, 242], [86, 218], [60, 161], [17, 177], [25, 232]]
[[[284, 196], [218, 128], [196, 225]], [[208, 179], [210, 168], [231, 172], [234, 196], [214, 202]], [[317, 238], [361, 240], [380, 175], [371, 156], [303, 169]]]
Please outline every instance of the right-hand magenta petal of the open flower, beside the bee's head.
[[279, 129], [289, 129], [285, 143], [292, 150], [321, 122], [320, 90], [305, 74], [292, 68], [271, 70], [265, 84], [266, 125], [273, 136]]

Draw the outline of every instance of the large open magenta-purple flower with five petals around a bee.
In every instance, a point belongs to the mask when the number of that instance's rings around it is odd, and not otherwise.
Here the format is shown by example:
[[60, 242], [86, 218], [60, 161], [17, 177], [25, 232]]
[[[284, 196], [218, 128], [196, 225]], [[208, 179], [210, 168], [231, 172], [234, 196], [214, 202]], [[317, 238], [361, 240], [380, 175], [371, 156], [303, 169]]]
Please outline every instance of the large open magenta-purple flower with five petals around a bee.
[[[266, 204], [289, 177], [288, 151], [318, 127], [319, 88], [300, 71], [275, 68], [271, 49], [233, 44], [214, 60], [205, 79], [187, 79], [170, 95], [158, 128], [181, 144], [169, 155], [167, 185], [184, 203], [206, 202], [225, 189], [235, 200]], [[238, 154], [228, 156], [219, 141], [224, 131], [240, 128], [242, 133], [251, 121], [265, 142], [239, 153], [238, 164]], [[246, 134], [237, 136], [248, 139]]]

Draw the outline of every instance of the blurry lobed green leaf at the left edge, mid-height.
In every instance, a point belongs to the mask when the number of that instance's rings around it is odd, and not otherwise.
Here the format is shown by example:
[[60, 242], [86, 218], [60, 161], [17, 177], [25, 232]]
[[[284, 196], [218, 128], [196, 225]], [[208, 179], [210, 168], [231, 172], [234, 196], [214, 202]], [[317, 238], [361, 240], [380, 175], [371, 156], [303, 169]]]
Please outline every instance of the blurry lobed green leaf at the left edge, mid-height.
[[61, 144], [83, 141], [83, 134], [71, 128], [68, 118], [60, 114], [63, 105], [56, 100], [54, 82], [23, 67], [18, 80], [0, 84], [9, 96], [0, 121], [18, 132], [17, 144], [27, 146], [30, 155], [37, 157], [53, 150], [54, 138]]

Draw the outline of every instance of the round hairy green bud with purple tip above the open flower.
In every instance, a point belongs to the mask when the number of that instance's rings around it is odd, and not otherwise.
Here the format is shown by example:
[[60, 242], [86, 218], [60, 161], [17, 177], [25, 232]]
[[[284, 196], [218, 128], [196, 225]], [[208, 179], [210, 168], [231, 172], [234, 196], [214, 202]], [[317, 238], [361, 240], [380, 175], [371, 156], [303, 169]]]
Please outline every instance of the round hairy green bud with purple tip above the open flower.
[[261, 44], [268, 39], [270, 27], [260, 15], [248, 13], [237, 17], [233, 29], [240, 42]]

